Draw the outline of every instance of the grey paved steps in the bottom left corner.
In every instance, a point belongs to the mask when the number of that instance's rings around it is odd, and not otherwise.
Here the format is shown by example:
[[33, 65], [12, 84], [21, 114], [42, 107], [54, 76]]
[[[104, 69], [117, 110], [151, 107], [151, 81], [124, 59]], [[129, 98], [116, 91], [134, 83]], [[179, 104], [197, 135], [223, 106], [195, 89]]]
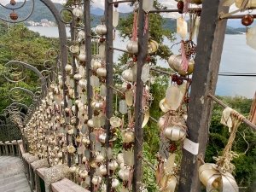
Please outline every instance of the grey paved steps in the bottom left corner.
[[0, 156], [0, 191], [30, 192], [30, 186], [19, 157]]

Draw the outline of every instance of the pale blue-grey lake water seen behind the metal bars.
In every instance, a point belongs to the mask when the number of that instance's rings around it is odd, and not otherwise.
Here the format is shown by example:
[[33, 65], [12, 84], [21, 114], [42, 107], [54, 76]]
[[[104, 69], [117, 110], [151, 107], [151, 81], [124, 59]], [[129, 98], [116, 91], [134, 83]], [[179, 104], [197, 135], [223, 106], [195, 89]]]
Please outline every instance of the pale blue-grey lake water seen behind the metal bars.
[[[43, 27], [43, 26], [29, 26], [30, 30], [39, 32], [40, 35], [46, 37], [58, 38], [57, 27]], [[70, 29], [66, 28], [67, 36], [70, 36]], [[177, 36], [175, 43], [179, 42], [180, 38]], [[128, 39], [121, 40], [116, 35], [113, 41], [113, 47], [124, 49]], [[167, 38], [164, 39], [164, 44], [169, 48], [174, 43]], [[172, 47], [172, 53], [178, 54], [180, 45]], [[122, 53], [114, 51], [113, 60], [117, 61], [119, 55]], [[160, 67], [169, 67], [167, 61], [158, 59], [157, 65]], [[195, 63], [196, 65], [196, 63]], [[254, 73], [256, 74], [256, 50], [250, 48], [246, 44], [246, 35], [225, 35], [224, 49], [221, 57], [219, 73]], [[256, 76], [218, 76], [218, 84], [216, 95], [218, 96], [245, 96], [253, 98], [256, 91]]]

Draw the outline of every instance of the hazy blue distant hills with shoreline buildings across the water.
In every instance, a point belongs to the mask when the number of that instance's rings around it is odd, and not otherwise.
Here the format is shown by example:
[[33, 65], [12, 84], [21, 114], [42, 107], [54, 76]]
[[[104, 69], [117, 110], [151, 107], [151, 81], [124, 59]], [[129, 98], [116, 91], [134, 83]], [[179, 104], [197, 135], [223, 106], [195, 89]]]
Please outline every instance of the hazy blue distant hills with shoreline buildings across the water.
[[[17, 2], [15, 7], [20, 6], [22, 2]], [[11, 7], [10, 4], [7, 5], [8, 7]], [[62, 9], [61, 3], [55, 3], [55, 6], [57, 9]], [[17, 10], [18, 15], [24, 15], [26, 16], [27, 13], [30, 13], [32, 8], [32, 1], [27, 1], [25, 6], [23, 6], [21, 9]], [[104, 13], [104, 10], [99, 8], [90, 8], [90, 16], [91, 16], [91, 27], [96, 27], [100, 24], [100, 20], [102, 19], [102, 15]], [[6, 17], [6, 15], [9, 15], [9, 10], [0, 8], [0, 16]], [[119, 18], [125, 18], [129, 14], [132, 13], [119, 13]], [[166, 23], [163, 25], [163, 28], [170, 29], [172, 31], [176, 31], [176, 19], [172, 18], [165, 18]], [[244, 26], [241, 26], [241, 21], [236, 20], [236, 23], [232, 21], [233, 23], [229, 23], [226, 29], [225, 34], [243, 34], [246, 32], [247, 28]], [[50, 13], [49, 9], [39, 0], [35, 0], [35, 9], [32, 13], [32, 15], [27, 19], [27, 21], [24, 22], [26, 26], [55, 26], [55, 18]], [[231, 26], [229, 26], [231, 24]], [[233, 27], [234, 26], [234, 27]], [[236, 27], [239, 26], [239, 27]]]

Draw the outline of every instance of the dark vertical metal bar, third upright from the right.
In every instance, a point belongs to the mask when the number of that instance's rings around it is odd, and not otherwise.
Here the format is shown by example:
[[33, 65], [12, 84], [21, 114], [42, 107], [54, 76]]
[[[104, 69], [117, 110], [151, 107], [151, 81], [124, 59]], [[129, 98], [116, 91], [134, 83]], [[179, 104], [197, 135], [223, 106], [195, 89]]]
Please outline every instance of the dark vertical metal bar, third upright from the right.
[[[113, 86], [113, 4], [109, 4], [110, 0], [105, 0], [105, 25], [107, 26], [106, 34], [106, 87]], [[113, 116], [113, 89], [107, 89], [106, 96], [106, 117], [110, 119]], [[106, 121], [106, 148], [108, 151], [108, 141], [110, 136], [110, 122]], [[108, 170], [108, 155], [106, 156], [106, 166]], [[110, 176], [106, 177], [107, 191], [111, 191], [111, 179]]]

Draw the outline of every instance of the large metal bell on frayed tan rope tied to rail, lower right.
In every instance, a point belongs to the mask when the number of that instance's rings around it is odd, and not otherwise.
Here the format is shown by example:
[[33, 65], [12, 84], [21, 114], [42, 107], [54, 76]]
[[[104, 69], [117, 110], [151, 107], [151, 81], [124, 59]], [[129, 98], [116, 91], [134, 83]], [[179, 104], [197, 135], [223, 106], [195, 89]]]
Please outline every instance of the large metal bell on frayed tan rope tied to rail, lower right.
[[223, 155], [213, 157], [213, 160], [217, 161], [216, 164], [205, 163], [199, 168], [199, 178], [201, 183], [206, 186], [207, 191], [212, 191], [212, 189], [230, 192], [239, 191], [236, 180], [232, 175], [236, 167], [231, 163], [231, 160], [239, 156], [231, 148], [242, 119], [245, 119], [245, 117], [232, 108], [224, 109], [221, 123], [229, 127], [229, 141], [223, 150]]

